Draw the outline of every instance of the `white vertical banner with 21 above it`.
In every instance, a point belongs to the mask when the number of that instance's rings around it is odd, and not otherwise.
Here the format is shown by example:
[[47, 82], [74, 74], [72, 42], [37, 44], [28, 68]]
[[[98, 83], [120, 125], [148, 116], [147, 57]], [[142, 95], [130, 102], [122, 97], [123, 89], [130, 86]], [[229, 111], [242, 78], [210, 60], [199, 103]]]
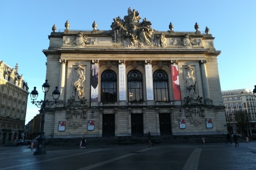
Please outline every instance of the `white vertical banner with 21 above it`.
[[145, 70], [146, 70], [147, 100], [154, 100], [152, 66], [149, 64], [146, 64]]

